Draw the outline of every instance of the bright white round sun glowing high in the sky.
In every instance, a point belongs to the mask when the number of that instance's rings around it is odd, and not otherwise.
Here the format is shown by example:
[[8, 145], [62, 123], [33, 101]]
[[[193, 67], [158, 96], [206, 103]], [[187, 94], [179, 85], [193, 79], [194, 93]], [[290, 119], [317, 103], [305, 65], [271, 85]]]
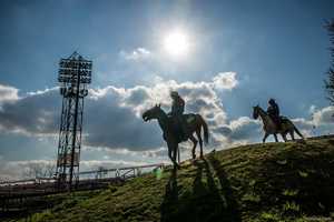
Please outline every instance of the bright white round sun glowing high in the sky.
[[164, 38], [164, 48], [173, 57], [184, 57], [189, 51], [188, 36], [181, 31], [174, 31]]

